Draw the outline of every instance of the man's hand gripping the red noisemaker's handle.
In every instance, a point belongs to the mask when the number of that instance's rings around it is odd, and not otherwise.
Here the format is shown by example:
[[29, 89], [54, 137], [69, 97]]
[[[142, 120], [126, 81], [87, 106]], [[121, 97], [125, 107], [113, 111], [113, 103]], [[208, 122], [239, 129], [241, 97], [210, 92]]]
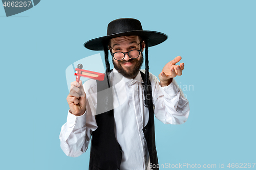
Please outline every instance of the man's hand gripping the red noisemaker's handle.
[[67, 102], [72, 114], [76, 116], [83, 115], [86, 111], [86, 93], [84, 92], [82, 81], [72, 82]]

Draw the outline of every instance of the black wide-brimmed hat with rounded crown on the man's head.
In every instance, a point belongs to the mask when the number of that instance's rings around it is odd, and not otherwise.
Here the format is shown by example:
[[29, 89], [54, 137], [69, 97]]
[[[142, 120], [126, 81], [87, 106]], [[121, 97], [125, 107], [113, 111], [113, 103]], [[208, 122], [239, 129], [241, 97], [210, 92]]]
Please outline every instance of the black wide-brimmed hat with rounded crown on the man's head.
[[106, 36], [95, 38], [84, 43], [84, 47], [89, 50], [104, 50], [112, 38], [121, 36], [138, 35], [143, 40], [147, 40], [148, 47], [158, 45], [165, 41], [168, 36], [157, 31], [144, 31], [139, 20], [133, 18], [120, 18], [113, 20], [108, 25]]

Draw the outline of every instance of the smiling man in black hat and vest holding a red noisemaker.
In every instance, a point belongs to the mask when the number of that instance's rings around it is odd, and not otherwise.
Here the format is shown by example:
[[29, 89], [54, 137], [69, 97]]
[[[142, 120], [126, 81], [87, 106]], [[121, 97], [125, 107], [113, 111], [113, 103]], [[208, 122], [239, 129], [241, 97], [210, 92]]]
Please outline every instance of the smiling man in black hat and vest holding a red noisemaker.
[[[91, 139], [89, 169], [159, 169], [154, 114], [165, 124], [182, 124], [189, 114], [174, 80], [184, 69], [184, 63], [175, 65], [181, 57], [163, 67], [160, 82], [148, 72], [148, 46], [166, 39], [163, 33], [143, 31], [137, 19], [121, 18], [109, 23], [107, 36], [84, 43], [90, 50], [104, 50], [106, 74], [103, 82], [71, 83], [70, 110], [59, 136], [66, 155], [86, 152]], [[144, 50], [146, 69], [140, 70]]]

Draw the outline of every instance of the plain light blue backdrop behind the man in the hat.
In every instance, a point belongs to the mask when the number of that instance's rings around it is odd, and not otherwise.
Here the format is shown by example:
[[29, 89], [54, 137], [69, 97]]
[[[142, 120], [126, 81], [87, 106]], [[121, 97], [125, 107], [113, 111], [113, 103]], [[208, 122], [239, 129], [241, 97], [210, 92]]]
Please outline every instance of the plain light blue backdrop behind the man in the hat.
[[227, 168], [232, 162], [256, 162], [255, 5], [41, 1], [10, 17], [0, 7], [1, 169], [88, 169], [89, 152], [71, 158], [60, 149], [58, 136], [69, 109], [65, 70], [97, 54], [83, 43], [104, 36], [108, 23], [122, 17], [169, 36], [149, 48], [154, 75], [181, 56], [185, 69], [176, 80], [182, 88], [193, 85], [183, 89], [190, 104], [185, 124], [156, 120], [159, 163], [225, 163]]

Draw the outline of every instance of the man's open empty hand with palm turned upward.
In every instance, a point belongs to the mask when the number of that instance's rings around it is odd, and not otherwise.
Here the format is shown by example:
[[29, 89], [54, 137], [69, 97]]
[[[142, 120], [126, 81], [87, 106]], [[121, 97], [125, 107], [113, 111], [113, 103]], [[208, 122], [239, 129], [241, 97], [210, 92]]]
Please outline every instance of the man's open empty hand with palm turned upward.
[[182, 75], [182, 70], [184, 69], [184, 63], [180, 63], [180, 65], [175, 65], [181, 60], [181, 57], [178, 56], [174, 60], [169, 61], [163, 67], [162, 71], [158, 75], [160, 83], [162, 86], [168, 86], [172, 83], [173, 78], [176, 76]]

